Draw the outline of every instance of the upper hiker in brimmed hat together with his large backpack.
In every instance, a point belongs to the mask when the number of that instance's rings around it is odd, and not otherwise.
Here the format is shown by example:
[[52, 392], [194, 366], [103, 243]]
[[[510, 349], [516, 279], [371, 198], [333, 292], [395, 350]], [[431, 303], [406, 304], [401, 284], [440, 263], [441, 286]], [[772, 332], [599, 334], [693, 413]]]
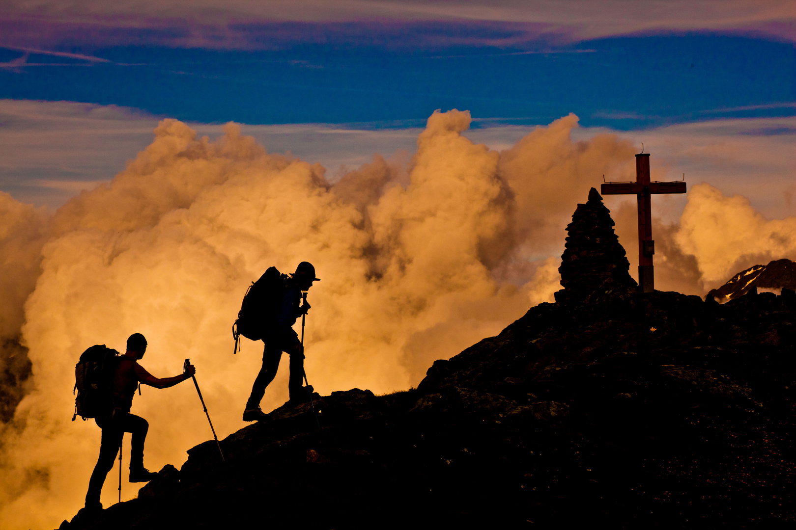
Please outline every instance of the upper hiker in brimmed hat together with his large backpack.
[[[252, 393], [246, 402], [244, 421], [267, 418], [267, 414], [259, 408], [259, 402], [263, 399], [266, 387], [274, 380], [283, 352], [291, 358], [290, 379], [287, 383], [290, 393], [288, 403], [298, 404], [310, 400], [313, 389], [309, 385], [302, 386], [302, 381], [306, 380], [304, 351], [293, 325], [299, 316], [306, 315], [310, 310], [306, 297], [304, 304], [299, 304], [302, 301], [302, 292], [308, 291], [314, 281], [320, 280], [315, 277], [314, 266], [307, 261], [299, 263], [296, 272], [289, 276], [271, 267], [252, 285], [244, 297], [244, 304], [238, 314], [236, 329], [233, 328], [233, 335], [236, 340], [237, 334], [240, 333], [249, 339], [255, 337], [262, 339], [265, 343], [263, 366], [259, 369], [252, 385]], [[256, 322], [246, 322], [247, 315], [248, 319]], [[247, 324], [254, 331], [247, 329]]]

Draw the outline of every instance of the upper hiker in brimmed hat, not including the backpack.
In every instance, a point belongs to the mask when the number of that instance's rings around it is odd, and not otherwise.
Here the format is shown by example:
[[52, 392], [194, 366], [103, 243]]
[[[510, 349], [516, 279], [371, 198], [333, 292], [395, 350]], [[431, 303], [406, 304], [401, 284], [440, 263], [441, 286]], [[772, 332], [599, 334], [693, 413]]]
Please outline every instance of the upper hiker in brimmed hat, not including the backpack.
[[287, 390], [290, 393], [288, 403], [298, 404], [310, 399], [313, 389], [303, 386], [304, 352], [293, 325], [299, 316], [306, 315], [306, 312], [310, 310], [310, 304], [307, 304], [306, 301], [303, 305], [299, 304], [302, 300], [302, 292], [308, 291], [314, 281], [320, 281], [320, 279], [315, 277], [315, 268], [308, 261], [299, 263], [296, 272], [291, 274], [290, 279], [287, 280], [286, 289], [277, 311], [276, 322], [267, 326], [269, 331], [267, 336], [263, 337], [263, 342], [265, 342], [263, 366], [259, 369], [254, 385], [252, 385], [252, 393], [246, 402], [244, 421], [267, 419], [266, 413], [259, 408], [259, 402], [263, 399], [266, 387], [276, 376], [282, 352], [286, 352], [291, 358], [291, 374], [287, 382]]

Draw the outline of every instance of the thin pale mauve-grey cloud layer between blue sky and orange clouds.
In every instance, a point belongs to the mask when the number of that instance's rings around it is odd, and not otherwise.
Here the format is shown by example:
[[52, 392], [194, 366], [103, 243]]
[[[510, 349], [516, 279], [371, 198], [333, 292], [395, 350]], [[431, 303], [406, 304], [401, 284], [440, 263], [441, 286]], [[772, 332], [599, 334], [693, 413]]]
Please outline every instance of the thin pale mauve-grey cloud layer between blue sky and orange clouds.
[[[26, 203], [55, 209], [92, 182], [107, 181], [151, 140], [158, 116], [119, 106], [88, 103], [0, 99], [0, 190]], [[422, 130], [404, 123], [241, 125], [269, 152], [322, 164], [327, 177], [368, 163], [373, 153], [409, 157]], [[513, 126], [497, 118], [474, 118], [477, 128], [466, 137], [497, 151], [511, 149], [535, 126]], [[218, 137], [222, 126], [190, 123], [200, 134]], [[646, 130], [615, 131], [577, 127], [577, 141], [599, 134], [618, 134], [635, 152], [642, 142], [653, 153], [652, 166], [661, 180], [681, 178], [689, 184], [708, 182], [727, 193], [750, 199], [769, 218], [792, 215], [786, 191], [792, 186], [796, 153], [796, 118], [729, 118]], [[403, 153], [403, 154], [400, 154]], [[397, 160], [397, 159], [396, 159]], [[589, 169], [602, 179], [599, 169]], [[632, 168], [629, 170], [632, 172]], [[630, 175], [630, 173], [628, 173]], [[607, 179], [617, 179], [607, 175]], [[624, 178], [624, 177], [622, 177]], [[764, 183], [760, 185], [760, 183]], [[95, 184], [95, 185], [96, 185]], [[607, 197], [610, 207], [622, 199]], [[656, 197], [661, 219], [675, 222], [685, 196]]]

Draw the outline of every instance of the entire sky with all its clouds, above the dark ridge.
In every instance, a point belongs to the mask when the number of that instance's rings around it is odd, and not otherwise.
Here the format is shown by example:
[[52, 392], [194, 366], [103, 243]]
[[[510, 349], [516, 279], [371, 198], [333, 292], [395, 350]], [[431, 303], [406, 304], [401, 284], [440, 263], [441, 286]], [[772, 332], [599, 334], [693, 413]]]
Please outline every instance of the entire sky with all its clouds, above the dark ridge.
[[[0, 527], [82, 505], [100, 430], [69, 421], [72, 367], [92, 344], [142, 332], [158, 377], [191, 358], [220, 437], [244, 427], [261, 346], [232, 355], [229, 327], [267, 266], [322, 278], [306, 367], [326, 394], [417, 385], [552, 302], [572, 211], [633, 180], [642, 149], [689, 187], [653, 199], [657, 288], [704, 296], [796, 259], [794, 18], [740, 0], [2, 2]], [[605, 203], [635, 277], [631, 199]], [[192, 392], [135, 398], [151, 470], [208, 439]], [[286, 399], [283, 366], [263, 410]]]

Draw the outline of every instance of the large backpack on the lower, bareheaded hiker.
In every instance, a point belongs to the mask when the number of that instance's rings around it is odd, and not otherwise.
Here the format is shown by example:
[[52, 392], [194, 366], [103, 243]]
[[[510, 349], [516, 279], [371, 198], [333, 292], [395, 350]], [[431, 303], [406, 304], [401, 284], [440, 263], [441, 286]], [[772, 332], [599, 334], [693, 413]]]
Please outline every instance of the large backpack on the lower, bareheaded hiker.
[[[75, 413], [83, 420], [110, 416], [113, 412], [113, 376], [119, 366], [118, 351], [96, 344], [80, 355], [75, 365]], [[74, 393], [72, 390], [72, 393]]]

